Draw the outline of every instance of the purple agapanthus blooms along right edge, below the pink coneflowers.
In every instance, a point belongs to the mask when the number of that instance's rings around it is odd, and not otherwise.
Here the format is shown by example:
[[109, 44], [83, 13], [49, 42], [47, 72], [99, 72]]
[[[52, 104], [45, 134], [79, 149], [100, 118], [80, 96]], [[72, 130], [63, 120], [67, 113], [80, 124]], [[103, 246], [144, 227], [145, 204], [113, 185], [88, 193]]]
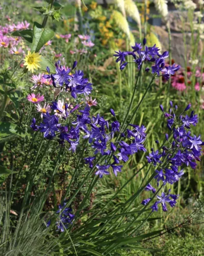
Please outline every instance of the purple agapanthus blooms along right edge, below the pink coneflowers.
[[[202, 155], [202, 142], [200, 135], [191, 135], [191, 127], [196, 126], [198, 122], [197, 115], [191, 111], [190, 115], [186, 114], [191, 108], [191, 104], [186, 106], [186, 109], [177, 115], [178, 107], [170, 102], [171, 108], [169, 112], [164, 112], [164, 108], [160, 105], [161, 111], [164, 113], [164, 117], [167, 119], [167, 127], [171, 131], [173, 138], [170, 140], [170, 135], [166, 134], [166, 144], [161, 147], [160, 150], [154, 151], [152, 149], [151, 154], [146, 156], [147, 161], [156, 167], [155, 179], [157, 180], [157, 187], [162, 185], [165, 186], [167, 183], [173, 184], [180, 180], [184, 175], [183, 168], [190, 166], [195, 169], [197, 161], [200, 161]], [[158, 143], [158, 141], [156, 141]], [[145, 190], [156, 193], [155, 188], [149, 184]], [[168, 195], [162, 192], [161, 196], [157, 195], [159, 199], [152, 206], [152, 211], [157, 211], [158, 204], [162, 204], [163, 211], [167, 211], [166, 202], [171, 207], [175, 206], [176, 199], [179, 195], [172, 195], [170, 191]], [[146, 205], [151, 198], [142, 201], [143, 205]]]

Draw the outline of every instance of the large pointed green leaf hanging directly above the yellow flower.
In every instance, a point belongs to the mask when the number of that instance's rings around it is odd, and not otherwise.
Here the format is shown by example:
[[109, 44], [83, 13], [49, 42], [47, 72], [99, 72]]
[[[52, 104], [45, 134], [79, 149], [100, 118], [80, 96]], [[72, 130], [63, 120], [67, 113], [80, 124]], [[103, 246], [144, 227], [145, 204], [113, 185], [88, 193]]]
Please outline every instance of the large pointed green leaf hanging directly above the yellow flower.
[[31, 52], [39, 52], [42, 46], [53, 38], [54, 34], [55, 33], [51, 29], [44, 28], [39, 23], [34, 22]]

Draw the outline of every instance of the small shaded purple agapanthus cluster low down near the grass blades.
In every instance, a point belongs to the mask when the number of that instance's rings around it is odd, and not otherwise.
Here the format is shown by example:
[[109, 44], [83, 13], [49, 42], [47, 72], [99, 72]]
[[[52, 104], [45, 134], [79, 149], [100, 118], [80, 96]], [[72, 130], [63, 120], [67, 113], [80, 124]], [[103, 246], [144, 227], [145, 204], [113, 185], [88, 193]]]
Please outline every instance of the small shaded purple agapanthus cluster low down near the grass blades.
[[[75, 215], [72, 214], [72, 208], [70, 207], [64, 208], [65, 206], [66, 206], [66, 202], [64, 202], [63, 206], [60, 204], [58, 206], [59, 210], [56, 211], [56, 214], [59, 214], [59, 218], [56, 222], [56, 228], [57, 228], [57, 231], [61, 231], [61, 232], [64, 232], [64, 230], [67, 229], [70, 224], [72, 224], [72, 221], [74, 220], [74, 217], [75, 217]], [[51, 224], [51, 220], [47, 222], [47, 227], [49, 227], [50, 224]]]

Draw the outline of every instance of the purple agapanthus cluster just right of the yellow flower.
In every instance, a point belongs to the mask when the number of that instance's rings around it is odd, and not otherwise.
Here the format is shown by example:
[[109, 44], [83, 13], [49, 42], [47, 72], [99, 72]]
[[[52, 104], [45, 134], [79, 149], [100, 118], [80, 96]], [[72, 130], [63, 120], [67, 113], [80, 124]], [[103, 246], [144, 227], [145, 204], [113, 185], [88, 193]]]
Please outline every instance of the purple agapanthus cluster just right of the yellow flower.
[[83, 70], [75, 70], [75, 74], [71, 74], [77, 66], [77, 61], [74, 61], [72, 68], [65, 68], [60, 65], [60, 61], [55, 63], [55, 74], [50, 74], [50, 69], [47, 67], [49, 75], [44, 75], [45, 79], [51, 79], [55, 88], [64, 88], [65, 91], [71, 92], [73, 98], [77, 97], [77, 94], [89, 95], [92, 87], [87, 78], [84, 78]]

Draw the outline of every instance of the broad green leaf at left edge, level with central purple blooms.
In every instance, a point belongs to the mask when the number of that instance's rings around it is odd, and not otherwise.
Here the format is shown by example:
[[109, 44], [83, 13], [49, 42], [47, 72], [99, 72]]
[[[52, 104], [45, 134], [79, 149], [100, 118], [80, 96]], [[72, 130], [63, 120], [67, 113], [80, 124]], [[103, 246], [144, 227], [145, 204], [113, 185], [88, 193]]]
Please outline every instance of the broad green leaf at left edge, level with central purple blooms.
[[30, 136], [27, 132], [20, 129], [18, 125], [11, 122], [0, 122], [0, 140], [12, 134], [20, 137]]

